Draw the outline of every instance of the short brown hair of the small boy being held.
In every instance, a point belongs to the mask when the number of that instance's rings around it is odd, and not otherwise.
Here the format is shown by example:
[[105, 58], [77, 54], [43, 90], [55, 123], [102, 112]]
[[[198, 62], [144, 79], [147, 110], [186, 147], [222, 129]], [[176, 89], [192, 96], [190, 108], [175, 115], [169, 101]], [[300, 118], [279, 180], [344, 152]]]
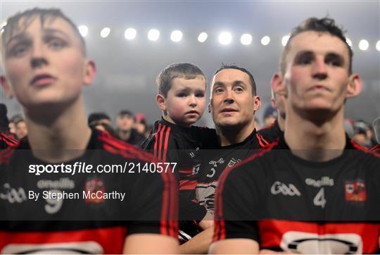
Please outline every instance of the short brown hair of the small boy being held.
[[175, 78], [191, 80], [197, 76], [202, 76], [205, 79], [205, 86], [207, 86], [205, 74], [198, 66], [192, 63], [172, 63], [162, 70], [156, 79], [158, 94], [167, 97], [167, 92], [172, 87], [172, 80]]

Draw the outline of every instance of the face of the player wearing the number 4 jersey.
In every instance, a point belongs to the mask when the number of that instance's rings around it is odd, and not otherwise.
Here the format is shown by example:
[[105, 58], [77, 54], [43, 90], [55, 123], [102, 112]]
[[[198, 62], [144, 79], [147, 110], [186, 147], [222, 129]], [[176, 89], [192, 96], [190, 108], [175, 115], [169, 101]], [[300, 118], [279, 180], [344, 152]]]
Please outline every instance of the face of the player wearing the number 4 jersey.
[[301, 111], [335, 112], [343, 107], [349, 83], [349, 52], [341, 39], [321, 32], [302, 32], [286, 55], [287, 102]]

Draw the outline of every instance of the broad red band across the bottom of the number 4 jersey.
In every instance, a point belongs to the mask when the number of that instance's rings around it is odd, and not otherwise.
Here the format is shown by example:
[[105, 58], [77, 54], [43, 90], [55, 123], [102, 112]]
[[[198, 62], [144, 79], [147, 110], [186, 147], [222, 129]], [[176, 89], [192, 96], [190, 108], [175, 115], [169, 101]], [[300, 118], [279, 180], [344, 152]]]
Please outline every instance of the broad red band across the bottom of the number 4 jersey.
[[[308, 223], [293, 220], [259, 220], [260, 248], [281, 247], [286, 233], [302, 232], [316, 235], [357, 234], [362, 238], [364, 254], [373, 254], [379, 248], [379, 224], [371, 223]], [[290, 235], [289, 235], [290, 234]], [[289, 233], [287, 238], [291, 238]], [[298, 237], [299, 239], [299, 237]], [[292, 240], [287, 240], [292, 242]]]

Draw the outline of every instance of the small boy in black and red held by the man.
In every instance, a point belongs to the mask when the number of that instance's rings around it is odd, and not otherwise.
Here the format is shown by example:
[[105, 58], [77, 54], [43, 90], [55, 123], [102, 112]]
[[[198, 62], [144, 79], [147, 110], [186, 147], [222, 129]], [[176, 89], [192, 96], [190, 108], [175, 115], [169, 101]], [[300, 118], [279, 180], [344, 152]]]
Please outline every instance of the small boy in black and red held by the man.
[[[206, 142], [216, 139], [214, 130], [193, 126], [205, 110], [206, 78], [202, 70], [191, 63], [173, 63], [158, 75], [157, 85], [156, 101], [163, 117], [153, 125], [151, 135], [142, 147], [153, 151], [161, 161], [177, 163], [179, 219], [184, 220], [179, 224], [179, 238], [184, 243], [181, 252], [205, 253], [207, 247], [199, 245], [196, 240], [186, 241], [213, 223], [204, 206], [195, 201], [200, 149], [207, 146]], [[194, 220], [199, 225], [194, 225]]]

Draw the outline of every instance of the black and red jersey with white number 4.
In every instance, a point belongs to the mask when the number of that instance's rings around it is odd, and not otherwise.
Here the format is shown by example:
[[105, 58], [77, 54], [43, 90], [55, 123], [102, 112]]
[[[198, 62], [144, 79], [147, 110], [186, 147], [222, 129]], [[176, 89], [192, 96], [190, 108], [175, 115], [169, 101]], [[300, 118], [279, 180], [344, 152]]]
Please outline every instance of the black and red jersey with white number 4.
[[341, 156], [324, 162], [278, 146], [224, 171], [214, 241], [246, 238], [300, 254], [379, 251], [379, 155], [349, 139]]

